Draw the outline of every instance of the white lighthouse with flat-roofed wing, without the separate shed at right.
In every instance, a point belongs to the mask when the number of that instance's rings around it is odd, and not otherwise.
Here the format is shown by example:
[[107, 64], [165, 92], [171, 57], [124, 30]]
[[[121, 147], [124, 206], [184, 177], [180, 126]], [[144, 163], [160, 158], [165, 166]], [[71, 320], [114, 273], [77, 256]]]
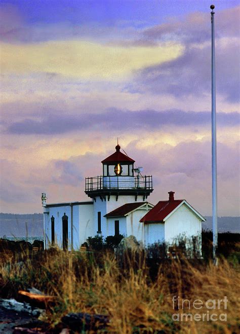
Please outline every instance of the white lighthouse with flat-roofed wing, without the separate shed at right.
[[[102, 160], [103, 174], [86, 178], [85, 193], [91, 201], [47, 204], [43, 195], [46, 248], [79, 249], [97, 234], [103, 238], [134, 235], [144, 242], [144, 226], [139, 220], [153, 207], [146, 202], [153, 191], [152, 176], [134, 175], [135, 160], [122, 153], [118, 144], [115, 149]], [[117, 208], [122, 208], [118, 216], [108, 216]]]

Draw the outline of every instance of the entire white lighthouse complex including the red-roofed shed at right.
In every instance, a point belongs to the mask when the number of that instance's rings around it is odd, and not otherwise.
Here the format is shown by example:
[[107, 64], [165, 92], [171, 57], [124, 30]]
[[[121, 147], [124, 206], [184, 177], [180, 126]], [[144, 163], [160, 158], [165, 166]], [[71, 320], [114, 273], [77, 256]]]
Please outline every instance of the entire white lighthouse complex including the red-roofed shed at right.
[[45, 248], [77, 250], [95, 235], [133, 235], [145, 246], [178, 234], [199, 237], [205, 218], [185, 200], [175, 200], [173, 192], [153, 208], [146, 201], [153, 191], [152, 176], [141, 175], [118, 144], [115, 150], [102, 160], [101, 176], [86, 178], [91, 201], [47, 204], [43, 193]]

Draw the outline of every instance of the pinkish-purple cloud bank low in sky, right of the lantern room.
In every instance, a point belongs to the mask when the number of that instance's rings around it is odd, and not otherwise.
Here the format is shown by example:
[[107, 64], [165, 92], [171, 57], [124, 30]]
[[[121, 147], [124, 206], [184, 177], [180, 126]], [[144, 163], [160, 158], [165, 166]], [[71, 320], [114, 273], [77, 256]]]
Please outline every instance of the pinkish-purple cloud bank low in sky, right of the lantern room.
[[[167, 199], [168, 191], [176, 198], [185, 198], [204, 215], [211, 214], [211, 142], [191, 141], [170, 145], [137, 148], [136, 142], [125, 150], [144, 167], [143, 174], [153, 176], [149, 202]], [[239, 215], [239, 153], [237, 148], [223, 143], [217, 146], [218, 163], [218, 213]], [[226, 158], [227, 157], [227, 158]], [[229, 211], [230, 210], [230, 211]]]

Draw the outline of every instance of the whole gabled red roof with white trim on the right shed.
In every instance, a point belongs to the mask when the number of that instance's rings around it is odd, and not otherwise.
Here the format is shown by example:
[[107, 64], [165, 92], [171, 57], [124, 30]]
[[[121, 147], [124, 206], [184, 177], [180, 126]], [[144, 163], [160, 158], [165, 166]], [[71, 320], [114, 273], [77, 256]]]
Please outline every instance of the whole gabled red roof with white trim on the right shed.
[[142, 217], [140, 222], [164, 222], [167, 220], [180, 206], [186, 204], [186, 206], [192, 210], [198, 218], [202, 221], [206, 219], [199, 214], [185, 199], [174, 199], [173, 201], [159, 201], [155, 207], [153, 207], [147, 214]]

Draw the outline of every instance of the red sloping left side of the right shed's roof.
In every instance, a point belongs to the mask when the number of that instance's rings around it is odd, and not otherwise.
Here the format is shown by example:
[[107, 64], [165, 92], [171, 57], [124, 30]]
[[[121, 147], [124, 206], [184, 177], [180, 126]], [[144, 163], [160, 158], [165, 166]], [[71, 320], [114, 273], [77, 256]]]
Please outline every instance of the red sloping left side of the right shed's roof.
[[173, 201], [159, 201], [154, 208], [142, 217], [141, 223], [163, 221], [184, 199], [174, 199]]

